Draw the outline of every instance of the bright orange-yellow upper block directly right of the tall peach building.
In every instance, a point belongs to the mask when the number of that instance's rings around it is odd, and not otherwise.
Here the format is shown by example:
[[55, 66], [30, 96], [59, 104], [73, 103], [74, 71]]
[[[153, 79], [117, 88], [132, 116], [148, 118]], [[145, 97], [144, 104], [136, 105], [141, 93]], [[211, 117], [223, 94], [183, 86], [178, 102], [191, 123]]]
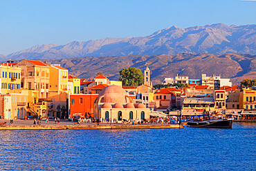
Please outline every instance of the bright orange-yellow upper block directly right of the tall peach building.
[[67, 92], [68, 70], [59, 65], [50, 65], [50, 91]]

